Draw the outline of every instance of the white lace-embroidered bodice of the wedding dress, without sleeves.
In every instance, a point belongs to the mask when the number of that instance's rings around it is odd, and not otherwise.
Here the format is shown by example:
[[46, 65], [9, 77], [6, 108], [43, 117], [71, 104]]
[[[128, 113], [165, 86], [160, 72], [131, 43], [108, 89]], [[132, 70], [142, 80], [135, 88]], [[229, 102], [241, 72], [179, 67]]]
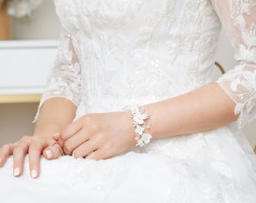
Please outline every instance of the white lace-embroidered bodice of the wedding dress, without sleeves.
[[109, 110], [113, 98], [143, 105], [211, 81], [221, 26], [209, 0], [56, 1], [56, 8], [94, 107], [99, 98]]

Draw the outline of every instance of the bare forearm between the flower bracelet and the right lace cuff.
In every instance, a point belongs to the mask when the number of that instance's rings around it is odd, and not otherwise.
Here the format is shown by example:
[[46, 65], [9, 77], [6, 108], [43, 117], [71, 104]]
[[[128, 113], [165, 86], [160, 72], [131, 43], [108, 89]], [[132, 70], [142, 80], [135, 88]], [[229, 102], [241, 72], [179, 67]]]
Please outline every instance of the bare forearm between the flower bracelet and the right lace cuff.
[[215, 129], [237, 120], [236, 104], [217, 83], [162, 102], [146, 105], [154, 138]]

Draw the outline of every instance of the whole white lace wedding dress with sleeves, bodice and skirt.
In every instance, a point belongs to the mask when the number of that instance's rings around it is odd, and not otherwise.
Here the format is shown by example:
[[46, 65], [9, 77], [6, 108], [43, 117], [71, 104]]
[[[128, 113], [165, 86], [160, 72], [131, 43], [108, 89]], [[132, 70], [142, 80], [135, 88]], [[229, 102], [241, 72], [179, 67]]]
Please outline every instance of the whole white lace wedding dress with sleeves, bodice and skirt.
[[[151, 141], [111, 159], [41, 159], [41, 174], [0, 169], [5, 202], [255, 203], [256, 157], [240, 128], [256, 117], [256, 1], [55, 0], [59, 53], [41, 100], [61, 96], [84, 114], [123, 111], [214, 81], [221, 24], [238, 65], [217, 83], [239, 120]], [[118, 123], [117, 123], [118, 125]]]

